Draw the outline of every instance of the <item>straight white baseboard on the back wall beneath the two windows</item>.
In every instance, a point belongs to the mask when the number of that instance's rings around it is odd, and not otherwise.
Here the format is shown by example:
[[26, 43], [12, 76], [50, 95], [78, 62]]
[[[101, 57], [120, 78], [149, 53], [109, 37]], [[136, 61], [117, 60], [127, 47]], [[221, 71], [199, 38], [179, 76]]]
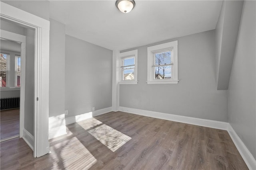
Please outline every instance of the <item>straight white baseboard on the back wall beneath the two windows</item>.
[[119, 110], [128, 112], [128, 113], [133, 113], [136, 115], [154, 117], [154, 118], [170, 120], [170, 121], [177, 121], [177, 122], [181, 122], [181, 123], [188, 123], [188, 124], [204, 126], [204, 127], [211, 127], [211, 128], [215, 128], [215, 129], [227, 130], [227, 127], [228, 127], [228, 123], [222, 122], [222, 121], [199, 119], [199, 118], [194, 118], [194, 117], [173, 115], [173, 114], [168, 114], [168, 113], [160, 113], [160, 112], [156, 112], [156, 111], [132, 109], [132, 108], [128, 108], [128, 107], [119, 107]]

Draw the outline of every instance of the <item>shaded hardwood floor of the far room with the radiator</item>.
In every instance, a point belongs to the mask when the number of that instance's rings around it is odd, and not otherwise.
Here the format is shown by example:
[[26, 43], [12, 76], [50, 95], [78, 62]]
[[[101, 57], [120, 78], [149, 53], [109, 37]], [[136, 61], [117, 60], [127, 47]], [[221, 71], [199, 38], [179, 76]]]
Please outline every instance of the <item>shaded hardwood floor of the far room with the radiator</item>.
[[0, 139], [20, 135], [20, 109], [0, 111]]

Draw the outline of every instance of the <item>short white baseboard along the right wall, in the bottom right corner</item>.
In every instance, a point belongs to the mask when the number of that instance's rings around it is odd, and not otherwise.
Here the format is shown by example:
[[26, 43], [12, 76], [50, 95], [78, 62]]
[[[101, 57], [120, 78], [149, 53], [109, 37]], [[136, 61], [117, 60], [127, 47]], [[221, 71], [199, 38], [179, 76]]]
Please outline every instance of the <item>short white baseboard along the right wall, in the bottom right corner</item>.
[[[228, 123], [229, 124], [229, 123]], [[236, 131], [232, 128], [232, 126], [228, 125], [228, 133], [236, 145], [236, 148], [238, 149], [239, 153], [241, 154], [242, 158], [244, 159], [244, 162], [248, 166], [250, 170], [256, 170], [256, 160], [250, 153], [250, 151], [247, 149], [247, 147], [244, 145], [243, 141], [240, 139], [240, 137], [236, 134]]]

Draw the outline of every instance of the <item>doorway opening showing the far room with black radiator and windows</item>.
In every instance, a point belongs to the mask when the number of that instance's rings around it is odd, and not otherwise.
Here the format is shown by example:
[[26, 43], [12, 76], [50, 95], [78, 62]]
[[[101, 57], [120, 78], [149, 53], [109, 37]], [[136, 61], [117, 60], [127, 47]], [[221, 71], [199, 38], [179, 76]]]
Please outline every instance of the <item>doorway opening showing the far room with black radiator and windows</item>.
[[21, 42], [1, 37], [0, 43], [0, 141], [2, 142], [20, 136]]

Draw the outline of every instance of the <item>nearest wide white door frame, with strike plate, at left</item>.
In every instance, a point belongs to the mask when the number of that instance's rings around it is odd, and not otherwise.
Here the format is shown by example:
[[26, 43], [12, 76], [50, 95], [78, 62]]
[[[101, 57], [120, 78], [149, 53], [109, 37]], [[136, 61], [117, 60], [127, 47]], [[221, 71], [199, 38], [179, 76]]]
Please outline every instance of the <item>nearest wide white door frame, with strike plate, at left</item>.
[[[0, 17], [35, 29], [34, 157], [49, 152], [49, 31], [50, 21], [0, 2]], [[37, 100], [38, 98], [38, 100]]]

